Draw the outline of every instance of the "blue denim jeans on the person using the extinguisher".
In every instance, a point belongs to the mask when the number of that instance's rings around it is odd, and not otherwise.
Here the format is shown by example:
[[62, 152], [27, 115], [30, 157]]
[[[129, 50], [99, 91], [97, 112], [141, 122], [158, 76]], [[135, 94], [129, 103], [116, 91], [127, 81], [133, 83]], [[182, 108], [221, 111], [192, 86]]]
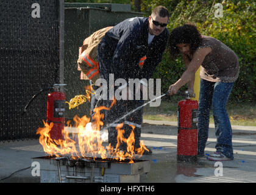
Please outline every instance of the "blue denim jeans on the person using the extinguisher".
[[233, 160], [232, 129], [226, 110], [227, 99], [234, 83], [209, 82], [201, 79], [198, 115], [198, 155], [204, 154], [208, 139], [210, 109], [213, 108], [216, 150]]

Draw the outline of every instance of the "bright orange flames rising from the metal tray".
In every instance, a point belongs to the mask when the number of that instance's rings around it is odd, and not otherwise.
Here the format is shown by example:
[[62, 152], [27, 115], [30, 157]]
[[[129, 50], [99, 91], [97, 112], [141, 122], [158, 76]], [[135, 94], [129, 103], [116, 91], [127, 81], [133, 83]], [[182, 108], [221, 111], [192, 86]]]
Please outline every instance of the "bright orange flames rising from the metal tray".
[[[124, 138], [124, 129], [122, 129], [123, 123], [119, 124], [119, 126], [116, 127], [116, 131], [118, 132], [116, 146], [112, 147], [110, 144], [108, 146], [103, 146], [100, 129], [104, 125], [104, 122], [102, 122], [104, 114], [101, 113], [101, 110], [109, 110], [113, 104], [115, 104], [115, 100], [109, 108], [95, 108], [94, 112], [96, 112], [96, 114], [93, 116], [93, 122], [90, 122], [90, 118], [87, 116], [83, 116], [82, 118], [74, 116], [74, 127], [78, 129], [78, 133], [73, 133], [72, 138], [69, 137], [69, 132], [64, 131], [63, 129], [63, 140], [52, 140], [50, 134], [54, 124], [53, 122], [50, 124], [44, 122], [44, 127], [40, 127], [37, 130], [37, 134], [40, 135], [39, 142], [43, 146], [44, 152], [57, 157], [60, 155], [69, 155], [71, 158], [101, 157], [102, 159], [115, 158], [119, 161], [129, 159], [129, 163], [133, 163], [135, 152], [138, 155], [142, 155], [146, 149], [141, 142], [140, 148], [135, 151], [134, 126], [131, 126], [132, 132], [129, 137]], [[71, 127], [69, 124], [68, 126]], [[125, 150], [120, 149], [121, 144], [124, 144], [127, 148]]]

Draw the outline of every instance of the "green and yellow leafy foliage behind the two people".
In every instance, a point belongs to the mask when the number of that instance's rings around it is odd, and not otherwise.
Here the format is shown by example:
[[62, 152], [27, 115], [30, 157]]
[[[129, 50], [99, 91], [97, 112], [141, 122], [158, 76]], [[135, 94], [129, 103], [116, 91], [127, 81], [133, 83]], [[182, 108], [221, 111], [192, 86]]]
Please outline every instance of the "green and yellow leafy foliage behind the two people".
[[[65, 0], [65, 2], [93, 2], [131, 4], [134, 0]], [[215, 17], [215, 5], [220, 3], [222, 17]], [[238, 55], [240, 76], [235, 82], [230, 98], [237, 102], [256, 102], [256, 2], [254, 0], [141, 0], [141, 12], [150, 15], [157, 5], [164, 5], [171, 13], [168, 30], [185, 23], [196, 24], [202, 35], [208, 35], [227, 44]], [[154, 77], [162, 79], [162, 91], [167, 91], [184, 71], [182, 59], [171, 60], [163, 55]]]

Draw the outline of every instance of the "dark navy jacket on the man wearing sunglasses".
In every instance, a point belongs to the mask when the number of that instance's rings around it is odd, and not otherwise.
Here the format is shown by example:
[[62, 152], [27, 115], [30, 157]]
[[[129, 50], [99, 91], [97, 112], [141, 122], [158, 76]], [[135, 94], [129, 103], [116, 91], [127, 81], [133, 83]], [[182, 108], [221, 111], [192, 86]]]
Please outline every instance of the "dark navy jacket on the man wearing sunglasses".
[[[148, 45], [149, 19], [129, 18], [108, 30], [98, 46], [100, 74], [114, 74], [115, 79], [149, 79], [162, 60], [169, 32], [155, 36]], [[140, 59], [146, 55], [143, 68]]]

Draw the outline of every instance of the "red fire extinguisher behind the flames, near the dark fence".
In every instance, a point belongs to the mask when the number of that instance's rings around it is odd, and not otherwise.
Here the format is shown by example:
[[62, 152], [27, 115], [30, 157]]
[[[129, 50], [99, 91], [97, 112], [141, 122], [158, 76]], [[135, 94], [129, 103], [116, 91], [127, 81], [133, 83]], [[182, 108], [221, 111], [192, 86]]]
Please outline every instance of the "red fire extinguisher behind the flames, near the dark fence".
[[66, 95], [60, 87], [66, 84], [54, 84], [54, 91], [48, 94], [46, 121], [53, 122], [50, 136], [52, 140], [63, 140], [65, 125], [65, 99]]

